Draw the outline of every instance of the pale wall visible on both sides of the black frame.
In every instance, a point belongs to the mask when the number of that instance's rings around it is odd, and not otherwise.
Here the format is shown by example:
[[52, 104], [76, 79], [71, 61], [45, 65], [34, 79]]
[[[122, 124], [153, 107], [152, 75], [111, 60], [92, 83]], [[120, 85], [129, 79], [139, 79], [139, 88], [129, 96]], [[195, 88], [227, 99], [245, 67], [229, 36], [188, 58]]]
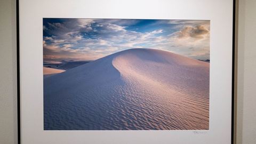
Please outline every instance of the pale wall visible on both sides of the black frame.
[[[256, 141], [256, 1], [238, 6], [237, 144]], [[0, 1], [0, 143], [17, 143], [15, 1]]]

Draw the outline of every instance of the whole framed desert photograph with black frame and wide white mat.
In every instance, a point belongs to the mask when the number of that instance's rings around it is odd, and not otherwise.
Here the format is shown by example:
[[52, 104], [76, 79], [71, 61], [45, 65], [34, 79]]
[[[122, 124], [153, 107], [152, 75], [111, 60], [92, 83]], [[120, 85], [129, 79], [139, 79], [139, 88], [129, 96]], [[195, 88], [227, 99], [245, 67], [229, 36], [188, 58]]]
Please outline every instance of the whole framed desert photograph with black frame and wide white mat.
[[233, 1], [17, 1], [19, 143], [233, 143]]

